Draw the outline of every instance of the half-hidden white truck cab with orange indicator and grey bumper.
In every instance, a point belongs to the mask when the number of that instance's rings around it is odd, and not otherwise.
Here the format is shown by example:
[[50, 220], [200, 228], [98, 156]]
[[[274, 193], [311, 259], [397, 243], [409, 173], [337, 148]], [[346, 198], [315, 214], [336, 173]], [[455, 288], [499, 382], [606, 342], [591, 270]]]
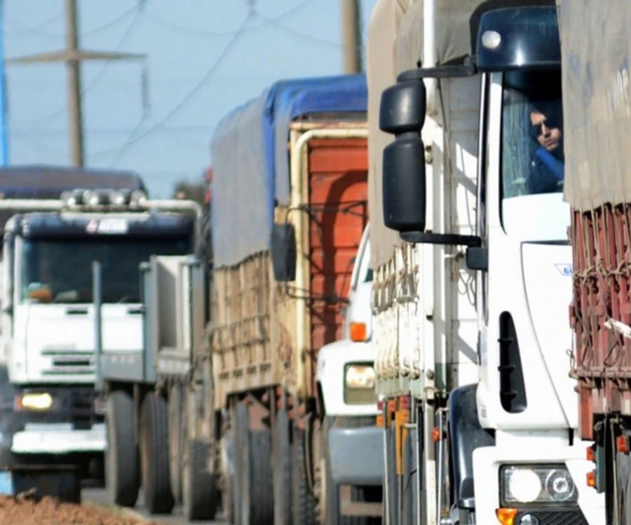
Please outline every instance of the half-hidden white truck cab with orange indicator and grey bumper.
[[318, 351], [315, 384], [320, 395], [318, 419], [311, 425], [313, 452], [306, 455], [313, 472], [318, 524], [381, 519], [384, 463], [372, 451], [381, 447], [374, 398], [372, 345], [372, 270], [367, 227], [355, 257], [342, 337]]

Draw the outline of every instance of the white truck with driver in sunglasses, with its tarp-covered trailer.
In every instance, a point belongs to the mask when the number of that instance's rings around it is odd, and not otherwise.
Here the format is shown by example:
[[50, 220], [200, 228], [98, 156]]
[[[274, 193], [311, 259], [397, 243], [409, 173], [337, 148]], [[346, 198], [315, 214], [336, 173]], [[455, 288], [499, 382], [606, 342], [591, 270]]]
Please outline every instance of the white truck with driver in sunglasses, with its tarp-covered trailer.
[[560, 67], [550, 1], [374, 7], [372, 325], [388, 524], [604, 523], [602, 496], [581, 484], [590, 463], [568, 374]]

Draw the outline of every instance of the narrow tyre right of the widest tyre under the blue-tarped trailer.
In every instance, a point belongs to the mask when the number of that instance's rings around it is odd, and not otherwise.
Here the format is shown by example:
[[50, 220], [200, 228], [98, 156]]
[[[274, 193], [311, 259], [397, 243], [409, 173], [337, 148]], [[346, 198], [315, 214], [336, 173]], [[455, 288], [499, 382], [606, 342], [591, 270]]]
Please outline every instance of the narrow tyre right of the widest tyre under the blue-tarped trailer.
[[274, 525], [292, 525], [290, 422], [286, 410], [276, 413], [273, 435]]

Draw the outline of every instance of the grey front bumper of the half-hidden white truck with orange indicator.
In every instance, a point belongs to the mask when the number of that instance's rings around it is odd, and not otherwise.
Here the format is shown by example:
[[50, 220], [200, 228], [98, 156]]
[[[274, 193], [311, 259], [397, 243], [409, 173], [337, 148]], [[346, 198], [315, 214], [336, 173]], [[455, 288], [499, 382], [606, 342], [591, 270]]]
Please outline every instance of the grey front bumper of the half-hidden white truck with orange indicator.
[[[384, 478], [383, 431], [371, 426], [344, 426], [339, 418], [329, 429], [331, 476], [340, 485], [381, 486]], [[357, 418], [366, 420], [367, 418]], [[374, 422], [374, 418], [372, 419]]]

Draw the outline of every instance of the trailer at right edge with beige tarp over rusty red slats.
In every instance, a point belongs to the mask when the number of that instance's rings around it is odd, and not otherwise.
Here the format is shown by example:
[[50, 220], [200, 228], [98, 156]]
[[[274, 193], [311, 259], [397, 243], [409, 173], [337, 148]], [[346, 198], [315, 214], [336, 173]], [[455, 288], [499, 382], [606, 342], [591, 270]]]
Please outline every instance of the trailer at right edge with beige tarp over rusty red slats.
[[564, 195], [571, 207], [571, 375], [578, 392], [578, 437], [586, 440], [591, 465], [580, 483], [604, 495], [607, 524], [629, 524], [630, 199], [625, 137], [631, 124], [626, 31], [631, 9], [623, 1], [559, 1], [557, 7]]

